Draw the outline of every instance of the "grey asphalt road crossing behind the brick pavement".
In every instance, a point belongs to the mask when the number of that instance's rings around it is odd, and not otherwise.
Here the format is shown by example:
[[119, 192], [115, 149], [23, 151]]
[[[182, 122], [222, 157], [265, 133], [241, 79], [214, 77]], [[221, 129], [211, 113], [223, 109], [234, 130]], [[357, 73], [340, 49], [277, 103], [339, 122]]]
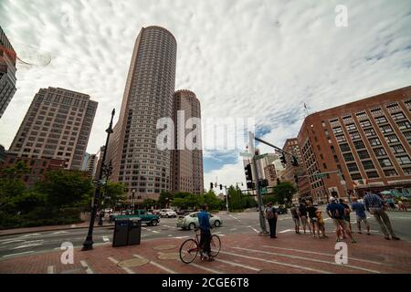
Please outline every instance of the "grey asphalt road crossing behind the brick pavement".
[[[402, 240], [411, 242], [411, 213], [389, 212], [391, 223], [394, 226], [395, 233]], [[255, 234], [260, 231], [258, 213], [241, 213], [241, 214], [219, 214], [222, 219], [222, 226], [214, 228], [214, 234], [225, 236], [230, 234]], [[326, 232], [332, 236], [334, 227], [332, 220], [324, 216]], [[355, 215], [352, 215], [353, 231], [356, 232], [354, 224]], [[174, 237], [188, 238], [193, 237], [193, 231], [183, 231], [175, 226], [176, 218], [162, 218], [157, 226], [142, 225], [142, 240]], [[372, 234], [382, 236], [381, 230], [374, 221], [369, 220]], [[293, 233], [293, 222], [290, 214], [279, 215], [277, 224], [278, 236], [282, 233]], [[111, 245], [113, 227], [99, 227], [94, 229], [93, 240], [95, 245]], [[60, 249], [63, 243], [71, 243], [79, 247], [84, 242], [87, 235], [87, 228], [71, 229], [61, 231], [39, 232], [26, 235], [6, 235], [0, 237], [0, 258], [8, 258], [16, 255], [40, 253], [49, 250]], [[372, 237], [371, 237], [372, 238]]]

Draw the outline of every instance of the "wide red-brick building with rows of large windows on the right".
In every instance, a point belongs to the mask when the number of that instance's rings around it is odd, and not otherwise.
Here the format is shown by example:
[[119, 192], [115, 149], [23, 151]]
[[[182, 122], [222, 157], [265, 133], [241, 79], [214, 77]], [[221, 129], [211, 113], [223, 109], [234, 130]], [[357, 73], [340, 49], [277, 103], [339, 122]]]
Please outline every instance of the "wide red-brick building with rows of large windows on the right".
[[[411, 189], [411, 87], [308, 116], [298, 141], [314, 201]], [[330, 172], [324, 176], [314, 175]], [[342, 173], [342, 180], [337, 174]]]

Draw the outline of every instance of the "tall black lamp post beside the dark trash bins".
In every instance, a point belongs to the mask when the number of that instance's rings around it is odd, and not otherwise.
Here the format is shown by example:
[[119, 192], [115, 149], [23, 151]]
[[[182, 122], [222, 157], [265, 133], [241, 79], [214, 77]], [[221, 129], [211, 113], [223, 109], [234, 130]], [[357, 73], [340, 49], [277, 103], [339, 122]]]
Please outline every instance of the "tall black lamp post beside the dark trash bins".
[[[91, 210], [91, 218], [90, 218], [90, 225], [89, 225], [89, 233], [87, 234], [86, 240], [83, 243], [83, 248], [81, 250], [86, 251], [93, 249], [93, 229], [94, 229], [94, 221], [96, 219], [96, 214], [97, 214], [97, 207], [99, 205], [99, 198], [100, 198], [100, 188], [101, 188], [101, 180], [102, 180], [102, 175], [103, 175], [103, 168], [105, 166], [106, 162], [106, 155], [107, 155], [107, 148], [109, 146], [109, 139], [110, 139], [110, 134], [112, 133], [112, 119], [114, 118], [115, 110], [111, 111], [111, 120], [110, 120], [110, 125], [109, 128], [106, 130], [107, 132], [107, 139], [106, 139], [106, 146], [105, 146], [105, 151], [103, 153], [102, 157], [102, 162], [101, 162], [101, 168], [99, 172], [99, 178], [96, 183], [96, 190], [94, 192], [94, 203], [93, 203], [93, 208]], [[107, 183], [107, 182], [106, 182]]]

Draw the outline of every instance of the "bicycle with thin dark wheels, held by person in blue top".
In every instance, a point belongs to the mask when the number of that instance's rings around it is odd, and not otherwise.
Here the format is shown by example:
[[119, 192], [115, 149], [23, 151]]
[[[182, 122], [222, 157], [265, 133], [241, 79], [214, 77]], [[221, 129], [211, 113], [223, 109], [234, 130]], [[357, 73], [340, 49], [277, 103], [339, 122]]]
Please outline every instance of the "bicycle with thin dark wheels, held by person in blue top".
[[[195, 229], [195, 238], [190, 238], [184, 241], [180, 246], [180, 259], [184, 264], [190, 264], [195, 260], [200, 248], [201, 234], [199, 229]], [[212, 235], [210, 239], [210, 255], [216, 257], [221, 249], [221, 240], [218, 235]]]

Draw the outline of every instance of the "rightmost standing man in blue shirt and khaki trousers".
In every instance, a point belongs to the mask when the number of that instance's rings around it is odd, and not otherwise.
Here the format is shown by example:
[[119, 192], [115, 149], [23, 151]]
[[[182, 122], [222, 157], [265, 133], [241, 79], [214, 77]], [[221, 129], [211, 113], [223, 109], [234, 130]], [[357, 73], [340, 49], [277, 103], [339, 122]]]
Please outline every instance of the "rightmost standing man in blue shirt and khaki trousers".
[[364, 205], [365, 209], [374, 215], [375, 221], [380, 224], [380, 228], [385, 235], [385, 239], [390, 240], [391, 235], [392, 239], [399, 240], [399, 237], [397, 237], [394, 233], [388, 214], [385, 213], [385, 205], [383, 200], [381, 200], [378, 195], [369, 192], [364, 196]]

